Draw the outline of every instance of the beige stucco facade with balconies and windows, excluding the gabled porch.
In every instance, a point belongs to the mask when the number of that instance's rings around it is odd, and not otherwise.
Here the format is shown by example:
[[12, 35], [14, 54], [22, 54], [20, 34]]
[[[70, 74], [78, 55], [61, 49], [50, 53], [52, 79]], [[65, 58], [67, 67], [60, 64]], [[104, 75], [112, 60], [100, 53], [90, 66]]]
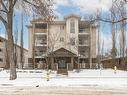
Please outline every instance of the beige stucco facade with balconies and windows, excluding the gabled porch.
[[[63, 21], [50, 23], [36, 19], [31, 21], [28, 30], [28, 60], [35, 58], [37, 59], [36, 64], [49, 54], [57, 50], [60, 52], [62, 49], [76, 55], [74, 59], [79, 58], [79, 64], [89, 63], [89, 54], [92, 56], [91, 60], [96, 58], [96, 26], [81, 20], [80, 16], [70, 15], [66, 16]], [[31, 64], [32, 62], [29, 61]]]

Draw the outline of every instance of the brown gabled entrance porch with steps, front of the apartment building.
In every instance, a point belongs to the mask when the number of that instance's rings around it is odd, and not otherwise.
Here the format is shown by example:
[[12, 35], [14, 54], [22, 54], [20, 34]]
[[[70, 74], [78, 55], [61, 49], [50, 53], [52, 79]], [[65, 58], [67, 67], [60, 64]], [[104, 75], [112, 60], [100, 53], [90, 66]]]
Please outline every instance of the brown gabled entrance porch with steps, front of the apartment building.
[[60, 48], [49, 54], [49, 57], [51, 58], [51, 69], [55, 68], [58, 74], [67, 74], [68, 70], [74, 69], [74, 58], [77, 56], [67, 49]]

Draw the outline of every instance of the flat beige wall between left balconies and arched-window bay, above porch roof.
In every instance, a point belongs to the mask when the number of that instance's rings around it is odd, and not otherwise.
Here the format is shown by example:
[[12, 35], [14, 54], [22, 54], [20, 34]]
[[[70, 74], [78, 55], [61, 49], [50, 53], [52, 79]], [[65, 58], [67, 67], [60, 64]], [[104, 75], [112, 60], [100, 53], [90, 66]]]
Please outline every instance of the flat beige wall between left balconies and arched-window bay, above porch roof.
[[[63, 30], [60, 29], [61, 26], [64, 27]], [[48, 43], [51, 52], [66, 46], [65, 27], [65, 25], [49, 25]], [[60, 38], [63, 38], [64, 41], [60, 41]]]

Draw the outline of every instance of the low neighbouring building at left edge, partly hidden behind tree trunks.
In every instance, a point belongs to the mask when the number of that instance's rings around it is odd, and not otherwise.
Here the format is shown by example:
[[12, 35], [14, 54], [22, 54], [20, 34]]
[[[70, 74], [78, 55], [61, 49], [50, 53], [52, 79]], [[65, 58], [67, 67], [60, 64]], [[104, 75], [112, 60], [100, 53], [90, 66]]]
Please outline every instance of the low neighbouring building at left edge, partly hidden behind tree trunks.
[[[3, 37], [0, 37], [0, 68], [9, 68], [9, 64], [7, 63], [8, 62], [8, 59], [7, 59], [7, 53], [6, 53], [6, 42], [7, 42], [7, 39], [3, 38]], [[17, 61], [17, 68], [22, 68], [21, 67], [21, 64], [20, 64], [20, 46], [19, 45], [16, 45], [14, 44], [14, 47], [15, 47], [15, 50], [16, 50], [16, 61]], [[23, 52], [24, 52], [24, 57], [23, 57], [23, 60], [24, 60], [24, 64], [28, 62], [28, 50], [27, 49], [23, 49]]]

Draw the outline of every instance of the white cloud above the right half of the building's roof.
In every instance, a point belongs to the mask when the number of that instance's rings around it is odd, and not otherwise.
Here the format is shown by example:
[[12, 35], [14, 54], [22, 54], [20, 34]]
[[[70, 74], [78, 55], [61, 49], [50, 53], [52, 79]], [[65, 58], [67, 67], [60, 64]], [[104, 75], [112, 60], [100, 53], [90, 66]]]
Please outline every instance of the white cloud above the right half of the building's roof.
[[97, 9], [108, 11], [111, 7], [111, 0], [72, 0], [73, 4], [79, 7], [81, 12], [96, 12]]

